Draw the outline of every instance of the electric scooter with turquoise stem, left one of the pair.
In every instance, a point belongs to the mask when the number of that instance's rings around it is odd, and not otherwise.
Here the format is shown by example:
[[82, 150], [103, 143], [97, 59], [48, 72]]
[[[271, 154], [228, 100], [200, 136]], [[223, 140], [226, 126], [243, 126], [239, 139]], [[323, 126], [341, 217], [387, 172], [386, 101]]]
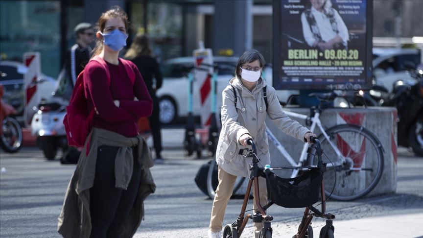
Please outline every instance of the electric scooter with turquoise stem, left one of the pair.
[[191, 156], [194, 151], [197, 152], [197, 157], [201, 158], [202, 144], [199, 139], [195, 137], [195, 120], [192, 114], [192, 96], [193, 96], [194, 76], [192, 73], [188, 74], [188, 118], [185, 126], [185, 141], [184, 149], [188, 156]]

